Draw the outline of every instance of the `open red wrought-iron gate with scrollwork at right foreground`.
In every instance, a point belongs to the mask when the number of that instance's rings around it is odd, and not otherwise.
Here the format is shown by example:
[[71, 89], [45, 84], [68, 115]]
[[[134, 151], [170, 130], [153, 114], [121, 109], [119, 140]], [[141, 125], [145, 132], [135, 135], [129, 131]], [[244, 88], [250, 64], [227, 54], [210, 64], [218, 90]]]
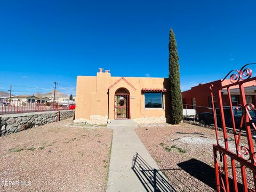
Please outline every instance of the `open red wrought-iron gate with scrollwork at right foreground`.
[[[214, 94], [217, 96], [215, 98], [219, 98], [219, 111], [223, 132], [223, 138], [221, 138], [217, 129], [217, 120], [219, 119], [217, 119], [218, 117], [215, 110], [216, 106], [214, 106], [214, 102], [212, 102], [215, 133], [217, 138], [217, 145], [213, 145], [217, 191], [238, 191], [241, 190], [239, 187], [242, 186], [243, 191], [256, 192], [256, 152], [253, 141], [255, 139], [254, 135], [256, 131], [254, 122], [256, 121], [251, 116], [251, 112], [254, 111], [254, 105], [253, 103], [246, 103], [244, 87], [247, 82], [256, 82], [256, 77], [252, 77], [252, 70], [247, 68], [247, 66], [253, 64], [256, 63], [247, 64], [243, 66], [241, 70], [231, 70], [222, 80], [224, 81], [229, 77], [230, 84], [223, 85], [221, 88], [214, 88], [213, 85], [210, 86], [211, 99], [213, 100]], [[230, 88], [239, 89], [240, 102], [237, 106], [232, 105]], [[227, 91], [228, 95], [231, 114], [231, 119], [229, 119], [232, 124], [231, 128], [233, 129], [234, 138], [229, 138], [229, 134], [227, 133], [226, 123], [229, 120], [223, 110], [223, 90]], [[234, 112], [238, 110], [241, 114], [239, 122], [237, 122], [237, 119], [234, 117]], [[244, 139], [243, 142], [241, 142], [243, 137], [242, 134], [244, 134], [247, 139]], [[233, 180], [230, 178], [233, 178]], [[241, 183], [243, 185], [241, 185]]]

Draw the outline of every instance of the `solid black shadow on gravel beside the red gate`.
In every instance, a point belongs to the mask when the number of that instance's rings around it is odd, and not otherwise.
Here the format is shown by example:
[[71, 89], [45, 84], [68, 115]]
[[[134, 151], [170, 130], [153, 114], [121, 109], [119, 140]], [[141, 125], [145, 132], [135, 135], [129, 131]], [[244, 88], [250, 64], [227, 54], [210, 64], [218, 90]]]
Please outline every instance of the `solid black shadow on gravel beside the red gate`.
[[[215, 182], [215, 171], [214, 168], [210, 165], [207, 165], [204, 162], [201, 162], [197, 159], [189, 159], [188, 161], [178, 163], [177, 164], [182, 170], [189, 173], [194, 178], [202, 181], [207, 186], [215, 189], [216, 188], [216, 182]], [[239, 168], [239, 167], [237, 167]], [[228, 169], [231, 169], [231, 167], [228, 167]], [[234, 191], [233, 187], [233, 179], [229, 179], [229, 187], [230, 191]], [[243, 185], [239, 182], [237, 182], [238, 191], [243, 191]]]

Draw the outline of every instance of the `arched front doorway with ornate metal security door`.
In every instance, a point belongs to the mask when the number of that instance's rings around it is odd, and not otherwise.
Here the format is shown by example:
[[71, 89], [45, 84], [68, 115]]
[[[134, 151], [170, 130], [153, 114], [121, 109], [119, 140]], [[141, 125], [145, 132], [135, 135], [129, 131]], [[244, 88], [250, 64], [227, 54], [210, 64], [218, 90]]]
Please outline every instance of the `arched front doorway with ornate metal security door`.
[[130, 118], [130, 92], [121, 87], [115, 92], [115, 119]]

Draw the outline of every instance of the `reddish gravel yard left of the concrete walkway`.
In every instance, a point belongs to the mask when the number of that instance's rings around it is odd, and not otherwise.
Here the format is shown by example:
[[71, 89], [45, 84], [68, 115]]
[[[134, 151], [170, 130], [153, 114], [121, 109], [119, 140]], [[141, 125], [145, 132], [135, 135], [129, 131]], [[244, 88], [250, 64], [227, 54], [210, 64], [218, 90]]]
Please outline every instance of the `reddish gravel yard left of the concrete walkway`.
[[70, 122], [0, 137], [0, 191], [106, 191], [112, 130]]

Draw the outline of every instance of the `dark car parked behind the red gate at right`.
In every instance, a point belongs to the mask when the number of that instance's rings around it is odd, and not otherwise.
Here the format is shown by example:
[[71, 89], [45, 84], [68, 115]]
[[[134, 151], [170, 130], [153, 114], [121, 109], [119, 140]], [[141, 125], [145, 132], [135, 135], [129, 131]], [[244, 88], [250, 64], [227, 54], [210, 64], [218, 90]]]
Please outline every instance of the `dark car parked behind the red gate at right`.
[[[226, 126], [227, 127], [233, 127], [232, 119], [231, 119], [231, 113], [230, 113], [230, 107], [229, 106], [223, 107], [223, 111], [224, 111], [224, 118], [225, 118]], [[242, 118], [243, 111], [242, 111], [242, 109], [237, 110], [236, 107], [233, 107], [233, 113], [234, 113], [235, 125], [236, 125], [236, 127], [239, 127], [240, 123], [241, 123], [241, 118]], [[249, 113], [252, 117], [253, 122], [256, 125], [256, 111], [255, 110], [249, 110]], [[216, 117], [217, 117], [218, 127], [222, 127], [220, 108], [216, 108]], [[199, 114], [197, 114], [196, 121], [198, 121], [201, 124], [205, 124], [205, 125], [214, 124], [213, 112], [211, 111], [211, 112], [208, 112], [208, 113], [199, 113]]]

